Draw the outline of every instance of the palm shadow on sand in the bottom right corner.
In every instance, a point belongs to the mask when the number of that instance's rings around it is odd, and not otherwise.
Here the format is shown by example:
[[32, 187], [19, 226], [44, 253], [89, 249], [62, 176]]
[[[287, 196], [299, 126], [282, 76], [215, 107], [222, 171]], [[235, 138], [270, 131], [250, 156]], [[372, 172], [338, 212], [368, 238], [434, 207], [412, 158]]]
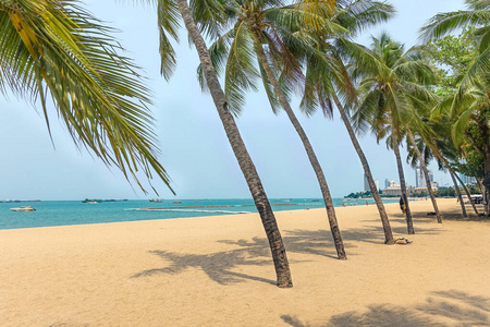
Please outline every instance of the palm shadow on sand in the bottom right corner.
[[[490, 299], [461, 291], [433, 292], [426, 303], [414, 307], [391, 304], [370, 305], [367, 312], [347, 312], [332, 316], [328, 322], [308, 324], [301, 318], [283, 315], [281, 318], [294, 327], [354, 327], [354, 326], [490, 326]], [[451, 323], [437, 319], [445, 318]]]

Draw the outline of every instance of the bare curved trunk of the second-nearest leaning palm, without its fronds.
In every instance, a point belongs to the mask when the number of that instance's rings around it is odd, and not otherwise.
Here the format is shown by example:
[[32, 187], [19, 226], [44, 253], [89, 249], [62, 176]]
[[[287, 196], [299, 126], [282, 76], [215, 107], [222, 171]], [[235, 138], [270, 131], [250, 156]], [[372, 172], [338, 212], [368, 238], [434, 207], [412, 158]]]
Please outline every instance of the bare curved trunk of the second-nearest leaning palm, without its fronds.
[[323, 171], [321, 170], [320, 162], [318, 162], [317, 156], [313, 149], [311, 144], [309, 143], [308, 136], [306, 136], [306, 133], [303, 130], [302, 125], [299, 124], [299, 121], [296, 119], [293, 109], [291, 109], [290, 102], [287, 101], [286, 96], [282, 92], [282, 88], [279, 85], [279, 82], [275, 78], [269, 65], [266, 52], [264, 51], [264, 48], [260, 44], [257, 45], [257, 52], [260, 64], [262, 65], [264, 71], [266, 72], [267, 77], [269, 78], [269, 82], [272, 84], [272, 87], [274, 88], [274, 93], [278, 96], [279, 102], [281, 104], [281, 107], [284, 109], [285, 113], [287, 114], [287, 118], [290, 119], [291, 123], [293, 124], [294, 129], [299, 135], [299, 138], [303, 142], [303, 146], [305, 147], [306, 154], [308, 155], [309, 162], [311, 164], [311, 167], [317, 175], [318, 183], [320, 184], [321, 194], [323, 195], [327, 216], [329, 218], [330, 230], [333, 235], [333, 242], [335, 244], [338, 257], [339, 259], [346, 259], [347, 256], [345, 255], [344, 243], [342, 242], [342, 237], [339, 230], [339, 223], [336, 221], [332, 196], [330, 195], [330, 190], [327, 184]]

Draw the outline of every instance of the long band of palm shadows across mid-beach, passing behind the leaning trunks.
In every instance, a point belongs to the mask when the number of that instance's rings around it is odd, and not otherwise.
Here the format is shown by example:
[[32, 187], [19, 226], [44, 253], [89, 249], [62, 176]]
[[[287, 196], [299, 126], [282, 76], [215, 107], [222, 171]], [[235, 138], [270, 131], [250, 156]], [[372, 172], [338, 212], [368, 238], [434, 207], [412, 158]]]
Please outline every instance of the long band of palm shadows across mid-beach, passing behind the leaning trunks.
[[[430, 233], [430, 229], [419, 229], [418, 232]], [[364, 227], [342, 231], [345, 247], [357, 247], [359, 242], [373, 243], [384, 246], [384, 235], [381, 227]], [[328, 230], [292, 230], [283, 235], [284, 245], [290, 253], [313, 254], [338, 259], [332, 235]], [[148, 269], [137, 272], [133, 278], [148, 277], [159, 274], [176, 275], [186, 269], [195, 268], [205, 271], [209, 278], [220, 284], [230, 284], [244, 279], [275, 284], [275, 281], [235, 271], [240, 266], [271, 266], [272, 258], [266, 238], [252, 240], [221, 240], [220, 243], [232, 245], [234, 249], [210, 254], [176, 253], [156, 250], [149, 253], [170, 262], [163, 268]], [[387, 245], [388, 246], [388, 245]], [[296, 261], [297, 262], [297, 261]]]

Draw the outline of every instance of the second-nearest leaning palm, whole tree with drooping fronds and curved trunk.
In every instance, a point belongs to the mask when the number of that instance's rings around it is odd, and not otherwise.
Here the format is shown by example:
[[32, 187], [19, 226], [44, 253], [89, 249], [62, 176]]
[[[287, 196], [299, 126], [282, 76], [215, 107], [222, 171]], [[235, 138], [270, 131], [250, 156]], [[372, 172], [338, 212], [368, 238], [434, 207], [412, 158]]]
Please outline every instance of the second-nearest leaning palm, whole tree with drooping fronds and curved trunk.
[[[281, 0], [237, 0], [230, 2], [228, 14], [226, 24], [232, 28], [215, 41], [211, 50], [217, 71], [224, 66], [230, 109], [238, 112], [244, 93], [256, 88], [254, 77], [261, 77], [272, 110], [274, 113], [280, 108], [284, 110], [304, 145], [320, 185], [338, 257], [346, 259], [327, 180], [287, 96], [287, 89], [304, 82], [302, 68], [286, 46], [291, 31], [299, 28], [304, 11], [296, 5], [283, 5]], [[330, 20], [324, 23], [335, 31], [345, 31]], [[258, 69], [254, 62], [258, 62]]]

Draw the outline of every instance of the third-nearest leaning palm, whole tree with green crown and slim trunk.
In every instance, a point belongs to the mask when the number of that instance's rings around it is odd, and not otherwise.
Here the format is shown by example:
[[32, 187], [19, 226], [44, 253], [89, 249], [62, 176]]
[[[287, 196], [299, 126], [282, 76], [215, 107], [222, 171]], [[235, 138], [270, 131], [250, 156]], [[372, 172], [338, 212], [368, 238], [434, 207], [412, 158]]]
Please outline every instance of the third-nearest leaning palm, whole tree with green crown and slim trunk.
[[[331, 21], [339, 24], [339, 26], [344, 27], [354, 36], [357, 32], [367, 28], [369, 25], [387, 21], [393, 13], [393, 8], [385, 3], [371, 0], [357, 0], [348, 5], [338, 7]], [[346, 52], [348, 52], [347, 50], [358, 50], [362, 47], [350, 41], [346, 38], [350, 35], [342, 37], [338, 33], [332, 33], [327, 24], [324, 24], [324, 26], [326, 27], [322, 31], [317, 29], [307, 33], [306, 29], [303, 28], [293, 34], [293, 37], [297, 37], [298, 41], [305, 43], [305, 46], [302, 48], [306, 49], [306, 53], [304, 55], [307, 68], [306, 76], [316, 89], [315, 94], [304, 94], [302, 101], [303, 108], [309, 113], [313, 109], [317, 108], [317, 105], [320, 105], [323, 109], [323, 113], [327, 117], [332, 117], [331, 99], [335, 104], [351, 137], [351, 142], [359, 157], [372, 197], [378, 207], [384, 231], [384, 243], [393, 244], [394, 240], [390, 221], [372, 178], [369, 164], [357, 141], [346, 108], [338, 96], [338, 94], [340, 94], [347, 102], [355, 104], [357, 101], [354, 86], [344, 64], [344, 58], [348, 57], [346, 55]]]

